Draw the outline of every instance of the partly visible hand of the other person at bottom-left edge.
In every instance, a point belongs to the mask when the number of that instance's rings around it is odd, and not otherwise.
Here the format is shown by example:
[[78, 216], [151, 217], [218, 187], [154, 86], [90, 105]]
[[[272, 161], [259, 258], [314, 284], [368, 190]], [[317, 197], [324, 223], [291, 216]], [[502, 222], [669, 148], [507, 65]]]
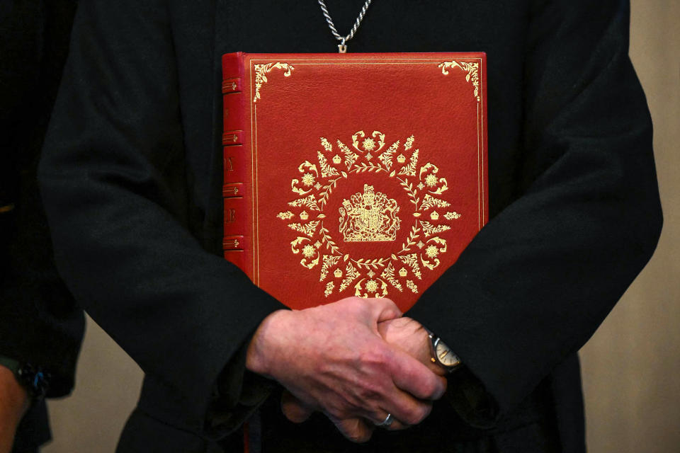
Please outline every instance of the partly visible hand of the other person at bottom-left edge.
[[27, 408], [26, 390], [0, 365], [0, 453], [11, 452], [16, 427]]

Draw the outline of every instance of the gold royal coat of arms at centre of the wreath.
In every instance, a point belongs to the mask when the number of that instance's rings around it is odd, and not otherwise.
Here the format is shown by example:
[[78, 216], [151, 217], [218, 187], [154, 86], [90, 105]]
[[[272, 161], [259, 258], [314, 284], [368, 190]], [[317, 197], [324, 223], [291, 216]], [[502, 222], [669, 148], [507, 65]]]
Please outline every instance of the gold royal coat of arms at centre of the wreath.
[[373, 185], [364, 184], [363, 193], [343, 200], [340, 208], [340, 232], [345, 242], [395, 241], [399, 231], [399, 205], [384, 193], [375, 193]]

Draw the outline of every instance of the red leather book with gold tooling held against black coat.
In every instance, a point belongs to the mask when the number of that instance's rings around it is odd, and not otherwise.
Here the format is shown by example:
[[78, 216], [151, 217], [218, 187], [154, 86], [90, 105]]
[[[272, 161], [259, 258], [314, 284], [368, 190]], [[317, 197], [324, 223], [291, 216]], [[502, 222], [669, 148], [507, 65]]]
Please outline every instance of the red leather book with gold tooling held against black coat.
[[483, 53], [222, 57], [225, 258], [293, 309], [409, 309], [487, 222]]

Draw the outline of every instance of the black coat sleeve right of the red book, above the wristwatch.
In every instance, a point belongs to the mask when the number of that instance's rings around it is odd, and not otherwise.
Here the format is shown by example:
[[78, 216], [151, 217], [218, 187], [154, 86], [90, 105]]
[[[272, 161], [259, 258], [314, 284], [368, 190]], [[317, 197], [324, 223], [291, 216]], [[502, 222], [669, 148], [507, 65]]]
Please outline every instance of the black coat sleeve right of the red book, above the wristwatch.
[[652, 124], [628, 58], [628, 1], [534, 3], [522, 195], [409, 312], [460, 355], [496, 415], [588, 340], [662, 225]]

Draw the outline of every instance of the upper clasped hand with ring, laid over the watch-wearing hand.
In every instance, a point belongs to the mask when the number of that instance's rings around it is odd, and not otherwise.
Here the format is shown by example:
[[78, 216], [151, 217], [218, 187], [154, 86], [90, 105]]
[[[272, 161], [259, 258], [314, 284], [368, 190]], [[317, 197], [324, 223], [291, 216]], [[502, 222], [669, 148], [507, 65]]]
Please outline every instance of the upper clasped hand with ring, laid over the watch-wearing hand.
[[401, 316], [389, 299], [348, 297], [300, 311], [275, 311], [251, 340], [246, 367], [276, 379], [309, 410], [323, 411], [356, 442], [368, 440], [387, 413], [416, 425], [446, 380], [394, 348], [378, 323]]

